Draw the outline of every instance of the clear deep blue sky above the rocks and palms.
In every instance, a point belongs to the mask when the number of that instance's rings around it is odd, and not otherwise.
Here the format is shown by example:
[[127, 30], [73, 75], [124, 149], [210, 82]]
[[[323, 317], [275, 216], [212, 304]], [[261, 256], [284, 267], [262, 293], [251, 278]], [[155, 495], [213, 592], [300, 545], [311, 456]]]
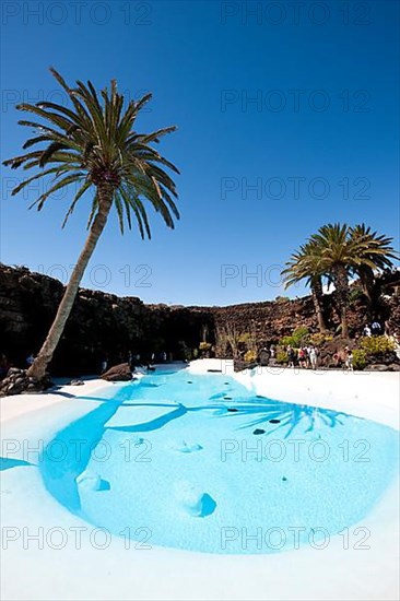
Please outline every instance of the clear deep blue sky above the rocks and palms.
[[[141, 131], [177, 125], [163, 151], [180, 169], [181, 220], [120, 236], [116, 217], [83, 285], [149, 303], [227, 305], [284, 293], [279, 271], [320, 225], [366, 222], [399, 240], [399, 4], [377, 2], [3, 2], [1, 158], [28, 131], [21, 101], [66, 103], [69, 82], [154, 99]], [[35, 12], [36, 11], [36, 12]], [[89, 198], [62, 231], [71, 190], [42, 213], [10, 197], [1, 254], [67, 280]], [[252, 274], [252, 276], [251, 276]]]

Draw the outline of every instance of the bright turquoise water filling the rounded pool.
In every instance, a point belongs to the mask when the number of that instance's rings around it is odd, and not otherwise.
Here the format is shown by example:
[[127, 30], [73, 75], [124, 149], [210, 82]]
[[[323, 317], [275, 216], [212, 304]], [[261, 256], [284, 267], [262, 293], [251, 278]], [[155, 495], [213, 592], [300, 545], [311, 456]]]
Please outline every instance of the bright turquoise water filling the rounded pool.
[[155, 372], [93, 398], [47, 445], [42, 475], [66, 508], [138, 549], [277, 553], [346, 531], [362, 544], [352, 527], [397, 473], [396, 431], [223, 374]]

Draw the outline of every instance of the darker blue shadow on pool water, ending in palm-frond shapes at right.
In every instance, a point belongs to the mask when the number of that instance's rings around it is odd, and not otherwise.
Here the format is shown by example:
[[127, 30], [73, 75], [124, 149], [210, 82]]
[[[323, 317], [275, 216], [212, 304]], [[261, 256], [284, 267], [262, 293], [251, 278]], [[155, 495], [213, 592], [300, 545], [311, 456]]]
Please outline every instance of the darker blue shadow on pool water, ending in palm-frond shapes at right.
[[[238, 426], [238, 429], [251, 428], [260, 424], [271, 424], [271, 429], [262, 434], [271, 435], [278, 431], [287, 428], [284, 433], [284, 438], [287, 438], [295, 428], [301, 424], [305, 425], [305, 433], [313, 432], [315, 428], [326, 426], [333, 428], [334, 426], [344, 425], [343, 419], [353, 417], [343, 412], [334, 410], [308, 406], [303, 404], [291, 404], [281, 401], [274, 401], [264, 397], [250, 398], [225, 398], [223, 403], [204, 404], [197, 406], [186, 406], [181, 403], [132, 403], [130, 399], [103, 399], [92, 398], [101, 404], [86, 415], [73, 421], [67, 427], [62, 428], [56, 437], [46, 445], [39, 461], [39, 470], [46, 488], [50, 494], [66, 506], [73, 514], [81, 515], [80, 493], [77, 485], [77, 478], [87, 467], [92, 451], [101, 443], [107, 429], [114, 429], [125, 433], [152, 432], [166, 427], [168, 424], [192, 412], [202, 413], [204, 411], [216, 411], [214, 416], [226, 419], [230, 416], [235, 421], [235, 417], [250, 416], [247, 423]], [[127, 402], [128, 401], [128, 402]], [[109, 420], [117, 413], [120, 406], [160, 406], [170, 408], [172, 411], [162, 415], [153, 416], [142, 423], [132, 423], [122, 426], [107, 425]], [[55, 441], [63, 443], [69, 452], [61, 461], [55, 461], [51, 452], [48, 451]], [[79, 457], [75, 452], [70, 452], [71, 443], [80, 441]], [[14, 467], [14, 466], [7, 466]], [[103, 488], [101, 488], [103, 490]], [[107, 488], [109, 490], [109, 488]]]

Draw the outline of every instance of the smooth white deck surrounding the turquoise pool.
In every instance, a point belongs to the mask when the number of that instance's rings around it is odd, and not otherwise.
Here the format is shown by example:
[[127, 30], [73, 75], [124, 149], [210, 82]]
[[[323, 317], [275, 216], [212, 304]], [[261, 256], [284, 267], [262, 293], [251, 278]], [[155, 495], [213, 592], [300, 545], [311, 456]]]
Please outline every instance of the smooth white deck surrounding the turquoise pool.
[[[193, 373], [209, 368], [233, 373], [230, 362], [219, 360], [197, 361], [188, 367]], [[400, 375], [396, 373], [262, 368], [235, 377], [258, 394], [344, 411], [399, 429]], [[26, 459], [24, 445], [46, 443], [60, 427], [96, 406], [90, 400], [73, 402], [73, 396], [93, 394], [103, 387], [102, 380], [87, 380], [81, 387], [62, 387], [58, 393], [0, 399], [1, 455], [7, 445], [8, 457]], [[12, 445], [14, 455], [10, 455]], [[1, 472], [0, 510], [2, 601], [397, 601], [400, 597], [398, 482], [354, 526], [349, 549], [338, 535], [325, 549], [309, 545], [268, 555], [143, 550], [115, 537], [101, 549], [104, 534], [60, 506], [33, 466]], [[357, 527], [366, 530], [355, 537]], [[364, 543], [369, 549], [355, 549], [363, 532], [369, 532]]]

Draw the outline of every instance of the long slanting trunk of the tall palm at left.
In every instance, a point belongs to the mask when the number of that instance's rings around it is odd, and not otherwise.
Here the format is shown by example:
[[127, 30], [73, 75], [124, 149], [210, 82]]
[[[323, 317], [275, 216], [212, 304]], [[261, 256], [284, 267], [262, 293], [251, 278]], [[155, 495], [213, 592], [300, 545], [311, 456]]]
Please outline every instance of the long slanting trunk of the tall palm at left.
[[52, 358], [52, 355], [57, 349], [57, 345], [60, 341], [67, 320], [71, 314], [72, 306], [75, 300], [79, 285], [83, 278], [84, 271], [93, 255], [97, 240], [102, 235], [102, 232], [107, 223], [109, 210], [113, 204], [113, 195], [114, 195], [114, 189], [109, 185], [104, 185], [103, 187], [97, 188], [97, 197], [98, 197], [97, 214], [90, 228], [90, 233], [86, 238], [83, 250], [72, 271], [71, 279], [68, 282], [61, 303], [58, 307], [57, 315], [47, 334], [47, 338], [37, 357], [35, 358], [34, 363], [27, 370], [27, 375], [33, 378], [36, 378], [37, 380], [42, 380], [45, 378], [47, 366], [49, 365]]

